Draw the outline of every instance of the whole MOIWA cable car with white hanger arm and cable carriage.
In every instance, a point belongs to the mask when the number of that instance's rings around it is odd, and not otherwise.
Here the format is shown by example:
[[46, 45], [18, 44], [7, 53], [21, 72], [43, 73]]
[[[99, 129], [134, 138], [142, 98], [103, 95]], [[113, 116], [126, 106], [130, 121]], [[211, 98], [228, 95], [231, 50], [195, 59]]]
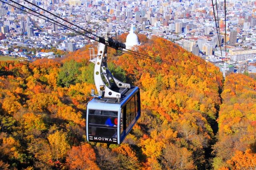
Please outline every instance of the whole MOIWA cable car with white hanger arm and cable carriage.
[[[102, 33], [110, 35], [114, 33]], [[90, 142], [121, 144], [140, 117], [140, 89], [117, 80], [108, 69], [107, 46], [125, 48], [123, 43], [105, 37], [98, 54], [90, 48], [94, 82], [98, 94], [87, 104], [86, 137]]]

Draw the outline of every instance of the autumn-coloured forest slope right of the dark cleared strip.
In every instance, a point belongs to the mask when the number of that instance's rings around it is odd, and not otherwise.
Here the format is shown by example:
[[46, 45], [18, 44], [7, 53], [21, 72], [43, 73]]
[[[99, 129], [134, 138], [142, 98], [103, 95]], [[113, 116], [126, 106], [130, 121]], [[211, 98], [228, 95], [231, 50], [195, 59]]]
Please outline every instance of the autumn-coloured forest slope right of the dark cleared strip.
[[256, 80], [242, 74], [226, 78], [221, 94], [214, 168], [256, 168]]

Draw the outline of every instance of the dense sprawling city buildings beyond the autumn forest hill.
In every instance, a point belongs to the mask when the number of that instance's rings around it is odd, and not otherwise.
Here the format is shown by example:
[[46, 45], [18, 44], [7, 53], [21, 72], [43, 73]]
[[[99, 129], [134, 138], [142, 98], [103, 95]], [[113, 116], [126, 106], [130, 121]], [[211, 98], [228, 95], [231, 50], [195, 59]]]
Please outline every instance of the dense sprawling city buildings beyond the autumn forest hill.
[[[216, 13], [217, 10], [213, 12], [210, 1], [33, 1], [38, 6], [96, 35], [100, 35], [102, 31], [116, 31], [117, 35], [121, 35], [129, 32], [130, 25], [134, 24], [136, 33], [144, 34], [148, 38], [152, 35], [163, 37], [214, 64], [221, 63], [226, 57], [229, 64], [237, 64], [236, 67], [239, 68], [239, 63], [248, 60], [253, 62], [256, 57], [253, 50], [256, 48], [256, 17], [255, 10], [253, 10], [256, 3], [254, 1], [227, 1], [226, 41], [228, 46], [225, 51], [223, 2], [219, 1], [217, 8], [214, 6], [214, 9], [218, 9], [218, 21], [215, 22], [214, 12]], [[74, 35], [72, 31], [61, 25], [26, 14], [8, 4], [1, 4], [0, 16], [3, 19], [1, 32], [4, 34], [2, 37], [6, 37], [9, 42], [7, 47], [14, 45], [45, 49], [54, 47], [62, 51], [70, 51], [68, 43], [72, 43], [75, 47], [71, 51], [74, 51], [93, 43], [86, 37]], [[23, 1], [20, 1], [20, 4], [32, 7], [31, 4]], [[42, 10], [38, 11], [50, 16]], [[60, 19], [53, 19], [64, 23]], [[219, 37], [216, 24], [220, 31]], [[4, 42], [3, 40], [1, 41]], [[194, 47], [193, 50], [194, 45], [199, 49]], [[6, 49], [3, 45], [0, 45], [0, 48], [2, 51]], [[244, 49], [247, 52], [231, 55], [230, 51], [234, 49]]]

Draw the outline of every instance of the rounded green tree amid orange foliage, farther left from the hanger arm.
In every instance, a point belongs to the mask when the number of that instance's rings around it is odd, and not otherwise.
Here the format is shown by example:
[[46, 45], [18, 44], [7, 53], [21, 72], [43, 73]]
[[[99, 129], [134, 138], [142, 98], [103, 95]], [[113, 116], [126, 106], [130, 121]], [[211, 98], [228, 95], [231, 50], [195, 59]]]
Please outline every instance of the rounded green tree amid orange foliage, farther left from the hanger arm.
[[80, 66], [81, 64], [74, 60], [64, 63], [58, 74], [58, 85], [69, 87], [70, 84], [79, 82], [78, 76], [81, 74]]

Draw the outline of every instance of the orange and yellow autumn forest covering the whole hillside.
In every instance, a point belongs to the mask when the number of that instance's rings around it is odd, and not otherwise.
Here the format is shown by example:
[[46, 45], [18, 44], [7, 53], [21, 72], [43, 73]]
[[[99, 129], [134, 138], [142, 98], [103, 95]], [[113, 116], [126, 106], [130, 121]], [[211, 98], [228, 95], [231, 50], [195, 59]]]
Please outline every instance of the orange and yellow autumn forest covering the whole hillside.
[[138, 37], [140, 53], [194, 71], [108, 50], [114, 76], [140, 88], [141, 117], [121, 145], [86, 141], [90, 45], [63, 58], [1, 62], [0, 169], [255, 169], [256, 76], [224, 80], [178, 45]]

